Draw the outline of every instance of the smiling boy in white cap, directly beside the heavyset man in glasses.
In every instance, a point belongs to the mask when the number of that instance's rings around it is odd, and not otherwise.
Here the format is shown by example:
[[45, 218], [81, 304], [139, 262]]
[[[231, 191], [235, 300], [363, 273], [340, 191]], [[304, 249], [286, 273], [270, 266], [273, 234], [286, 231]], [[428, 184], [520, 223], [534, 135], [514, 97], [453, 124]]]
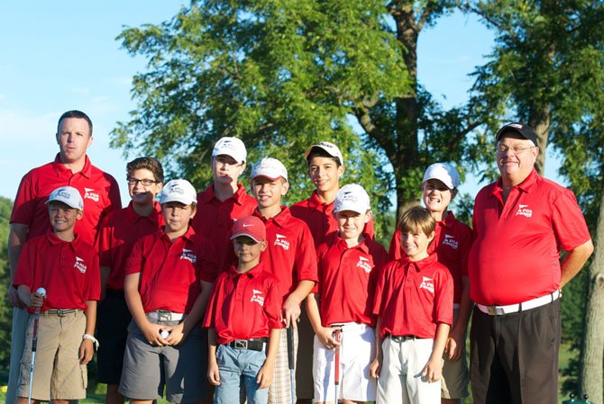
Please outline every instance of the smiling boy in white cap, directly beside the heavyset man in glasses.
[[[460, 403], [469, 394], [470, 382], [465, 340], [471, 310], [468, 254], [473, 237], [471, 229], [448, 210], [460, 184], [460, 175], [450, 163], [428, 166], [422, 182], [422, 202], [436, 220], [435, 239], [428, 247], [428, 253], [437, 253], [438, 261], [453, 277], [453, 326], [444, 348], [443, 404]], [[397, 230], [390, 242], [389, 257], [397, 260], [402, 256], [400, 232]]]

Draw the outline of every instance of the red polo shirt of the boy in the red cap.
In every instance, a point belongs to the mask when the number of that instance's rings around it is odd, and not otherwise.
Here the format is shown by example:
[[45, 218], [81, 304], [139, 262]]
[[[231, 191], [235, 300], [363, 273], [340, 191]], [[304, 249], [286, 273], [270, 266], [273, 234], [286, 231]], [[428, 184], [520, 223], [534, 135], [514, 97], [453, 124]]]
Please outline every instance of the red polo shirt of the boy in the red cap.
[[244, 274], [232, 266], [216, 279], [203, 327], [215, 328], [218, 344], [270, 337], [271, 329], [283, 327], [280, 313], [277, 278], [266, 265], [256, 265]]

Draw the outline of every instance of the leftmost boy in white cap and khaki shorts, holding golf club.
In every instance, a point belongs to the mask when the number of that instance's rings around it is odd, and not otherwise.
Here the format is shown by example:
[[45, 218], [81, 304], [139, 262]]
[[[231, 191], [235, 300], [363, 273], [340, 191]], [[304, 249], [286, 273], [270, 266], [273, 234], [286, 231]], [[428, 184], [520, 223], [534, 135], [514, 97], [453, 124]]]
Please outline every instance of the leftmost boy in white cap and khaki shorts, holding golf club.
[[[94, 354], [100, 275], [96, 250], [74, 233], [84, 201], [76, 188], [62, 186], [46, 202], [53, 231], [23, 246], [14, 287], [29, 307], [41, 308], [32, 400], [67, 404], [86, 398], [86, 364]], [[46, 298], [37, 291], [46, 289]], [[27, 328], [17, 404], [27, 403], [33, 318]]]

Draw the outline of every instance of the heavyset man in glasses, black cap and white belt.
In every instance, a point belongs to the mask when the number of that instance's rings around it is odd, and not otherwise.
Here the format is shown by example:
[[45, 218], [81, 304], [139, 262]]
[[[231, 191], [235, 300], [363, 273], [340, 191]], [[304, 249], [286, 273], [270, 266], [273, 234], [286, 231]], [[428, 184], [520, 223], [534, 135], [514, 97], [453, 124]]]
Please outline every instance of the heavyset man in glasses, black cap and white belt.
[[574, 194], [536, 173], [535, 132], [510, 123], [496, 139], [501, 177], [480, 190], [472, 219], [473, 402], [549, 404], [558, 399], [560, 290], [593, 245]]

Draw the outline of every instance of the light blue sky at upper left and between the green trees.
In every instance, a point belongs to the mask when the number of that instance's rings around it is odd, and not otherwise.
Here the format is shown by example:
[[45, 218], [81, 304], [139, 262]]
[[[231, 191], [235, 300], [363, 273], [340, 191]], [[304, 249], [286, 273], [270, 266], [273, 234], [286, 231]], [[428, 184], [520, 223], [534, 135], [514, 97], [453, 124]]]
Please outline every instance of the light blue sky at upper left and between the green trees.
[[[79, 109], [91, 117], [93, 164], [114, 175], [124, 201], [125, 160], [108, 146], [116, 121], [126, 121], [135, 104], [132, 76], [146, 60], [132, 58], [115, 37], [125, 26], [168, 20], [183, 1], [114, 0], [0, 3], [0, 196], [14, 199], [21, 177], [57, 153], [56, 123], [62, 112]], [[467, 76], [484, 63], [493, 36], [461, 13], [445, 16], [420, 34], [419, 79], [445, 107], [463, 103]], [[548, 157], [548, 171], [557, 163]], [[553, 177], [553, 175], [548, 175]], [[468, 178], [462, 191], [479, 188]]]

